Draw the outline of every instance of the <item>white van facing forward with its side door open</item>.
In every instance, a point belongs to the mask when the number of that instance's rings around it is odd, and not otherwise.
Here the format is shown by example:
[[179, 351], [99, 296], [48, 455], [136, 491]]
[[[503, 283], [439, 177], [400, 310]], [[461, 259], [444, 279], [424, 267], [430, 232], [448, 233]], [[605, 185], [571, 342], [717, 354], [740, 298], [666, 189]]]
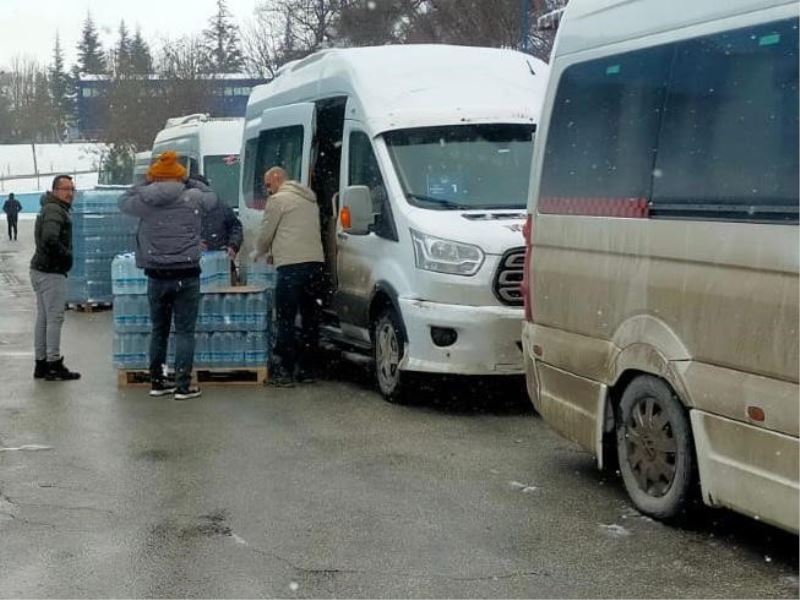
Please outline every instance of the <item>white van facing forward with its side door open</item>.
[[412, 371], [523, 372], [521, 231], [547, 71], [508, 50], [337, 49], [250, 95], [245, 243], [269, 167], [314, 189], [332, 280], [324, 334], [374, 358], [387, 399]]

